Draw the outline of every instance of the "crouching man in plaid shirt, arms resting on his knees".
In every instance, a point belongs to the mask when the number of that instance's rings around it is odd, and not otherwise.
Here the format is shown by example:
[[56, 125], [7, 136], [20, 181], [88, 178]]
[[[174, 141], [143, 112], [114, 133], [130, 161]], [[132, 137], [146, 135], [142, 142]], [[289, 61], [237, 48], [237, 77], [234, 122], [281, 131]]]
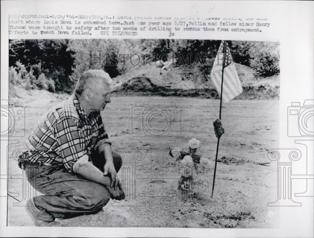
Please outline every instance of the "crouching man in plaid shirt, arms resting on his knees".
[[61, 226], [55, 218], [100, 211], [110, 197], [124, 199], [100, 111], [110, 103], [112, 80], [103, 70], [84, 72], [67, 100], [38, 120], [20, 157], [30, 184], [42, 196], [27, 201], [37, 226]]

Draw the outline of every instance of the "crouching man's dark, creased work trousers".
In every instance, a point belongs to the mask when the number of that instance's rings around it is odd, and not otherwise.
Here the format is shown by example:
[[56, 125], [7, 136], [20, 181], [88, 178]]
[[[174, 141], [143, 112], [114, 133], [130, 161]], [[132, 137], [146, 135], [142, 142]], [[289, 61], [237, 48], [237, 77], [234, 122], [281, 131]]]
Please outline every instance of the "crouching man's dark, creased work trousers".
[[[93, 161], [101, 171], [105, 161]], [[121, 168], [121, 161], [114, 160], [115, 169]], [[101, 184], [86, 180], [83, 176], [69, 173], [63, 165], [25, 166], [30, 184], [45, 195], [34, 197], [34, 203], [43, 213], [55, 218], [69, 218], [100, 211], [109, 201], [110, 193]]]

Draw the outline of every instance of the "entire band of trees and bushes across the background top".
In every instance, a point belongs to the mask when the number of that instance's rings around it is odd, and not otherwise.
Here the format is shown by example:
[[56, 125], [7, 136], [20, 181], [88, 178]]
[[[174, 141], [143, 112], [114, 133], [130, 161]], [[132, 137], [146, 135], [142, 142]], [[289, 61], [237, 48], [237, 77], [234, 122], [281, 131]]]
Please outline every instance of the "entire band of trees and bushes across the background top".
[[[141, 64], [132, 65], [128, 56], [121, 57], [122, 54], [139, 57], [147, 54], [149, 62], [172, 61], [175, 67], [190, 67], [191, 73], [197, 71], [207, 80], [205, 76], [212, 67], [206, 59], [213, 62], [220, 42], [192, 39], [9, 40], [9, 82], [27, 89], [72, 92], [81, 73], [87, 69], [103, 69], [115, 78], [134, 67], [141, 67]], [[234, 61], [250, 66], [255, 77], [280, 72], [279, 43], [228, 41], [228, 44]], [[133, 57], [133, 62], [137, 61], [138, 57]]]

